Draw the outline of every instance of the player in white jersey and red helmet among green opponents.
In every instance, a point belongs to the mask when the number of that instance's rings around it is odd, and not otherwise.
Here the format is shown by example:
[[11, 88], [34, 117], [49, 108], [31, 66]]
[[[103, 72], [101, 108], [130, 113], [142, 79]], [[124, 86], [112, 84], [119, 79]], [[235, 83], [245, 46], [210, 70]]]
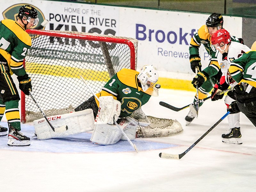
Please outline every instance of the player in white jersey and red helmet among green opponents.
[[[215, 84], [212, 91], [212, 100], [222, 99], [223, 95], [217, 95], [216, 93], [223, 91], [230, 87], [234, 87], [239, 82], [236, 82], [230, 75], [228, 68], [230, 67], [231, 61], [239, 58], [243, 53], [251, 51], [249, 47], [238, 42], [231, 42], [230, 34], [225, 29], [219, 29], [212, 35], [212, 45], [216, 48], [217, 60], [221, 68], [222, 77], [220, 82]], [[235, 95], [233, 91], [228, 92], [225, 97], [225, 104], [227, 108], [235, 101]], [[242, 144], [239, 113], [228, 115], [229, 132], [222, 134], [222, 141], [225, 143]]]

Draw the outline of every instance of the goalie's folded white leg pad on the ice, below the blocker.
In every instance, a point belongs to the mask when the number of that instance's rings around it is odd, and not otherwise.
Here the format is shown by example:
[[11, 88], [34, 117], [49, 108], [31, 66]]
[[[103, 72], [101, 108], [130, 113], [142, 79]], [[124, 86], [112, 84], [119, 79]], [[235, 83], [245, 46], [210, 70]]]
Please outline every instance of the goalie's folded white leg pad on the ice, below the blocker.
[[122, 137], [121, 130], [116, 125], [96, 124], [90, 141], [101, 145], [112, 145]]

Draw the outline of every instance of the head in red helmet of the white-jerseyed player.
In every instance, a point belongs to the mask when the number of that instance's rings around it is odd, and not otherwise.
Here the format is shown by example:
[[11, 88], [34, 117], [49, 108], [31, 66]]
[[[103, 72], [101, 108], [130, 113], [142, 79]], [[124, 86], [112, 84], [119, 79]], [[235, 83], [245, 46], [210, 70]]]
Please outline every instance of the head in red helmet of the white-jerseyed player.
[[[230, 34], [226, 29], [220, 29], [216, 31], [211, 38], [211, 44], [220, 51], [224, 51], [227, 48], [227, 44], [231, 42]], [[224, 47], [224, 49], [222, 49]]]

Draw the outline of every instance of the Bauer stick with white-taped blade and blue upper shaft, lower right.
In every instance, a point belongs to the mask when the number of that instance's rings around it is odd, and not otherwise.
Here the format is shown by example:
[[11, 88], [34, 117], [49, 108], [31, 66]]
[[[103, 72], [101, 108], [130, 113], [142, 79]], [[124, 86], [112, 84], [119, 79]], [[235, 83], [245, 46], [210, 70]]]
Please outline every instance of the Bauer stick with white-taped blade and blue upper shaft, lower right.
[[214, 125], [212, 125], [212, 127], [205, 132], [198, 140], [196, 140], [195, 143], [193, 143], [186, 151], [184, 151], [183, 153], [179, 154], [179, 155], [173, 155], [173, 154], [169, 154], [169, 153], [159, 153], [159, 157], [161, 158], [165, 158], [165, 159], [181, 159], [184, 155], [186, 155], [188, 153], [188, 151], [190, 151], [193, 147], [195, 147], [195, 145], [201, 141], [209, 132], [211, 132], [213, 130], [214, 127], [216, 127], [226, 116], [228, 116], [230, 112], [228, 111], [223, 117], [221, 117]]

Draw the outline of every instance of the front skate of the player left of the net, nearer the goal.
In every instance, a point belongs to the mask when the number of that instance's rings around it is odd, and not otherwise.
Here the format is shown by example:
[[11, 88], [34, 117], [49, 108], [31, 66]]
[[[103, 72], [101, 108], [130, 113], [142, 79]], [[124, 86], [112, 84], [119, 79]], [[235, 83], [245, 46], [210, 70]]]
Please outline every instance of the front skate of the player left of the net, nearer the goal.
[[20, 131], [12, 127], [9, 123], [8, 146], [29, 146], [30, 138], [23, 135]]

